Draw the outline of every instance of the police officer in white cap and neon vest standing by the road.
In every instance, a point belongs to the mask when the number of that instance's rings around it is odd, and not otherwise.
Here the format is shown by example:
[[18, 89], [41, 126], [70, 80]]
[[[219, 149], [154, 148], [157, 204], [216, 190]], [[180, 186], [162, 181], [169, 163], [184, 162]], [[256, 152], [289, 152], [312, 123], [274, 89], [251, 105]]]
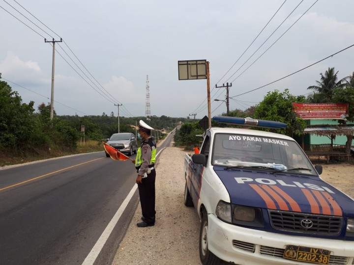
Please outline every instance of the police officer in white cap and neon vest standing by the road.
[[136, 183], [138, 184], [143, 216], [142, 222], [137, 223], [138, 227], [148, 227], [155, 224], [156, 143], [151, 137], [151, 130], [154, 129], [140, 120], [138, 138], [142, 138], [143, 142], [137, 151], [135, 167], [138, 172]]

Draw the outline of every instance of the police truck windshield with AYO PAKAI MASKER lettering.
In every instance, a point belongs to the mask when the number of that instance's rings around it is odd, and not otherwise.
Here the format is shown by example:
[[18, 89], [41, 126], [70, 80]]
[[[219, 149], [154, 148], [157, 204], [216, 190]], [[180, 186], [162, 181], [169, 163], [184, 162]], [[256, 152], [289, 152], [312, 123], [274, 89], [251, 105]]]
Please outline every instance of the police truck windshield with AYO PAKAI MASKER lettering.
[[254, 135], [216, 133], [211, 164], [281, 171], [293, 169], [290, 172], [317, 175], [295, 141]]

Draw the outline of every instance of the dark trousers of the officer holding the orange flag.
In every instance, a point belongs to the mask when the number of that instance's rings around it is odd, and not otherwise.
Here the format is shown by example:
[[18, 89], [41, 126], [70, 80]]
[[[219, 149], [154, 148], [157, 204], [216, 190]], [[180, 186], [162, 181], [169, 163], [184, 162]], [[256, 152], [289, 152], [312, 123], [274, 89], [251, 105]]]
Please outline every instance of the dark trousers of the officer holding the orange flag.
[[156, 171], [152, 169], [148, 177], [138, 184], [142, 213], [149, 224], [155, 223], [155, 179]]

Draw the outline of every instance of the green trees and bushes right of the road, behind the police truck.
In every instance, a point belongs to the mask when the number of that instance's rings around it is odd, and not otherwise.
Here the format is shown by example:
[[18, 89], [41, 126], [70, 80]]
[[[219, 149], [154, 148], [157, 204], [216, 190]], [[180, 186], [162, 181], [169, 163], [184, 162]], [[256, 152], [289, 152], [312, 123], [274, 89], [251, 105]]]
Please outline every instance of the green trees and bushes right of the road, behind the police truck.
[[[300, 119], [293, 111], [292, 103], [348, 103], [349, 110], [347, 121], [354, 122], [354, 72], [351, 76], [338, 80], [338, 72], [334, 68], [328, 68], [320, 74], [321, 79], [316, 81], [316, 85], [311, 85], [307, 89], [312, 90], [307, 97], [290, 94], [289, 89], [269, 91], [263, 101], [256, 106], [251, 106], [246, 110], [235, 109], [229, 112], [231, 117], [251, 117], [255, 119], [272, 120], [286, 123], [286, 129], [275, 130], [293, 138], [301, 135], [307, 122]], [[227, 116], [226, 113], [222, 115]], [[338, 124], [346, 123], [344, 120], [337, 120]], [[222, 125], [212, 121], [212, 126], [237, 127], [235, 125]], [[251, 128], [254, 130], [270, 131], [265, 128]], [[185, 147], [185, 150], [193, 150], [201, 145], [202, 138], [196, 134], [204, 132], [198, 121], [183, 124], [175, 135], [175, 145]], [[348, 136], [347, 147], [350, 147], [353, 135]]]

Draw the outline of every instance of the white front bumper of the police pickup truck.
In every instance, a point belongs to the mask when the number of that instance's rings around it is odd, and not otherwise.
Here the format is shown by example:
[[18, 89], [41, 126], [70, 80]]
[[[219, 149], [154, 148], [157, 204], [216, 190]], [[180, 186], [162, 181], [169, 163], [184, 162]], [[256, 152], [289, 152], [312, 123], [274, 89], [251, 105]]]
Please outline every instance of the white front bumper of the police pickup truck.
[[283, 258], [286, 245], [327, 249], [331, 251], [329, 265], [354, 265], [354, 241], [253, 230], [225, 223], [214, 214], [208, 214], [208, 248], [224, 261], [237, 265], [311, 264]]

